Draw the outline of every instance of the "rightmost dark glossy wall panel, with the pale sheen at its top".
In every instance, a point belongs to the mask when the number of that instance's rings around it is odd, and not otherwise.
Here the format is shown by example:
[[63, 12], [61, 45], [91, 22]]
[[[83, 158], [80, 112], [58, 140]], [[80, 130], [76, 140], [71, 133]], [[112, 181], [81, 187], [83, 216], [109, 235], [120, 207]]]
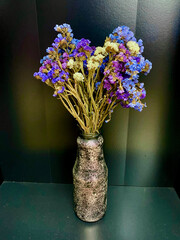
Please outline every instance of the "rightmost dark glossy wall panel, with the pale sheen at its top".
[[153, 68], [141, 78], [148, 107], [142, 113], [130, 111], [126, 185], [169, 186], [173, 182], [176, 159], [169, 144], [175, 140], [170, 136], [170, 119], [179, 6], [179, 1], [138, 2], [136, 36], [144, 40], [144, 56], [152, 61]]

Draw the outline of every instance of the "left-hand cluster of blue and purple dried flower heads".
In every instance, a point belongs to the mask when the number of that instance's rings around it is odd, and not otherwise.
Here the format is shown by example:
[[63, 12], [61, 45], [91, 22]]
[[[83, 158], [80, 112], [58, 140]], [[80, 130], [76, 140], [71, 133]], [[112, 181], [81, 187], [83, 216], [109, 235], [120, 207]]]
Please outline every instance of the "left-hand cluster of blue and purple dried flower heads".
[[53, 96], [57, 96], [57, 93], [65, 90], [65, 82], [69, 77], [68, 61], [70, 59], [84, 60], [85, 72], [88, 73], [86, 59], [94, 52], [95, 47], [89, 46], [91, 42], [88, 39], [73, 38], [69, 24], [56, 25], [54, 29], [58, 35], [52, 46], [46, 49], [48, 55], [40, 60], [42, 66], [39, 72], [34, 73], [34, 77], [48, 85], [53, 84], [57, 89]]

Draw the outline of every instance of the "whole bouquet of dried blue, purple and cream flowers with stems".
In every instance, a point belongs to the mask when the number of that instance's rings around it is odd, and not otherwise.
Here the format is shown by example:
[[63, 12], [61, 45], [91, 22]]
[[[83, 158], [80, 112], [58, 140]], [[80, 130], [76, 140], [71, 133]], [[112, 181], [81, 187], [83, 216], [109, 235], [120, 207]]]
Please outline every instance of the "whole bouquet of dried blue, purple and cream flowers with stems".
[[78, 121], [85, 134], [99, 133], [104, 121], [119, 104], [142, 111], [146, 107], [144, 83], [152, 63], [142, 56], [143, 41], [138, 41], [127, 26], [106, 37], [103, 47], [90, 46], [88, 39], [76, 39], [69, 24], [56, 25], [58, 32], [42, 66], [34, 77], [54, 89], [54, 97]]

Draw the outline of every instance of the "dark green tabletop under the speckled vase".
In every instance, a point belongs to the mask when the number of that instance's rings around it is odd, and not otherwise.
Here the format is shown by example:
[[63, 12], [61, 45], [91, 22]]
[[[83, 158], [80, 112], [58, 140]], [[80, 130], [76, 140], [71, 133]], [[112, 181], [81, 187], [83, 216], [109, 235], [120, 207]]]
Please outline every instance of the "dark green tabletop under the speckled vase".
[[70, 184], [3, 182], [0, 240], [180, 240], [180, 199], [173, 188], [109, 186], [96, 223], [73, 211]]

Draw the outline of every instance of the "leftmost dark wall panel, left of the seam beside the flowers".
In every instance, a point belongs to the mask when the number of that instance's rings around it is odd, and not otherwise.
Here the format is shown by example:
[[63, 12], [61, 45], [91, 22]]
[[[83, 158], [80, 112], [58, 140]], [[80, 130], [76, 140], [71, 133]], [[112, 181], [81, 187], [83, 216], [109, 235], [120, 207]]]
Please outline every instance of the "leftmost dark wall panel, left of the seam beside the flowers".
[[0, 2], [1, 168], [4, 180], [50, 181], [35, 1]]

